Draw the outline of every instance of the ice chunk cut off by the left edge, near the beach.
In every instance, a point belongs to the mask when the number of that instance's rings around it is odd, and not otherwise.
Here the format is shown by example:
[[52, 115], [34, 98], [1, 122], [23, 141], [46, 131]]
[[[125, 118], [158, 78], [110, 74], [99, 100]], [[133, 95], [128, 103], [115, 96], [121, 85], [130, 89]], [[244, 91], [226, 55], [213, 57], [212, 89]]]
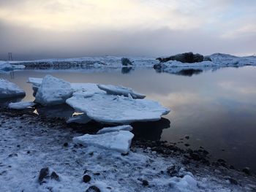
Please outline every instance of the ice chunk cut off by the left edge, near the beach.
[[26, 93], [18, 85], [8, 80], [0, 79], [0, 98], [25, 96]]

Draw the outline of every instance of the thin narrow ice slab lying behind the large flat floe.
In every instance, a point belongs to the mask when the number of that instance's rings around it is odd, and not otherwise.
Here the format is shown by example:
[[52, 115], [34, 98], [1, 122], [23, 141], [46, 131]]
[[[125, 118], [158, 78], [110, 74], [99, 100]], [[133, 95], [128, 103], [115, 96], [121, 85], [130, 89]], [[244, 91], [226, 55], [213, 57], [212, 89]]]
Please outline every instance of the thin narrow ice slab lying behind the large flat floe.
[[132, 96], [133, 99], [144, 99], [146, 96], [140, 93], [135, 93], [132, 88], [125, 88], [122, 86], [116, 85], [102, 85], [98, 84], [98, 88], [106, 91], [107, 94], [110, 95], [118, 95], [118, 96]]

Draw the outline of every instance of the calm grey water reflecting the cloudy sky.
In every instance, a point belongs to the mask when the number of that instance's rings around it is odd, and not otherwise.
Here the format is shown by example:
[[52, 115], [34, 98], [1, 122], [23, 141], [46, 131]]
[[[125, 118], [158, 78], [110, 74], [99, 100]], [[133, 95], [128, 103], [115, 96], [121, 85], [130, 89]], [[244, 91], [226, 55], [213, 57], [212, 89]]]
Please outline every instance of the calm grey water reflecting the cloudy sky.
[[[136, 123], [135, 134], [146, 139], [203, 146], [212, 158], [224, 158], [256, 172], [256, 67], [225, 68], [192, 76], [157, 73], [153, 69], [85, 73], [79, 71], [20, 71], [0, 74], [26, 90], [31, 101], [28, 77], [52, 74], [69, 82], [98, 82], [124, 85], [144, 93], [172, 110], [157, 123]], [[187, 73], [184, 73], [187, 74]], [[58, 109], [55, 109], [58, 111]], [[62, 109], [61, 109], [62, 110]], [[69, 114], [69, 112], [68, 112]], [[185, 135], [190, 139], [181, 140]], [[179, 146], [184, 146], [179, 143]]]

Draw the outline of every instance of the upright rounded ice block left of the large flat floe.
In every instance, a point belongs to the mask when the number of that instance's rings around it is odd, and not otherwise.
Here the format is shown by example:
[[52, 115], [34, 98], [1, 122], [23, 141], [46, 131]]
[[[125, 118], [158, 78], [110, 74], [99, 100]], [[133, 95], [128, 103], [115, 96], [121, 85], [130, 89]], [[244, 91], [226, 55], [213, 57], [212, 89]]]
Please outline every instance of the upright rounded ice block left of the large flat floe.
[[72, 96], [73, 90], [69, 82], [46, 75], [38, 88], [35, 102], [42, 105], [64, 104]]

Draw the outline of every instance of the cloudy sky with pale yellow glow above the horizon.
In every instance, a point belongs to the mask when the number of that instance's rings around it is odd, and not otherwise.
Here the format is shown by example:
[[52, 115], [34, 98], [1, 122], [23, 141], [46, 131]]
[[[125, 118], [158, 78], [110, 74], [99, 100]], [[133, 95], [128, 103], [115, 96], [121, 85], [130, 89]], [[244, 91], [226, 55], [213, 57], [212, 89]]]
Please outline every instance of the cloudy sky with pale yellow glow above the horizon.
[[0, 60], [256, 54], [255, 0], [0, 0]]

